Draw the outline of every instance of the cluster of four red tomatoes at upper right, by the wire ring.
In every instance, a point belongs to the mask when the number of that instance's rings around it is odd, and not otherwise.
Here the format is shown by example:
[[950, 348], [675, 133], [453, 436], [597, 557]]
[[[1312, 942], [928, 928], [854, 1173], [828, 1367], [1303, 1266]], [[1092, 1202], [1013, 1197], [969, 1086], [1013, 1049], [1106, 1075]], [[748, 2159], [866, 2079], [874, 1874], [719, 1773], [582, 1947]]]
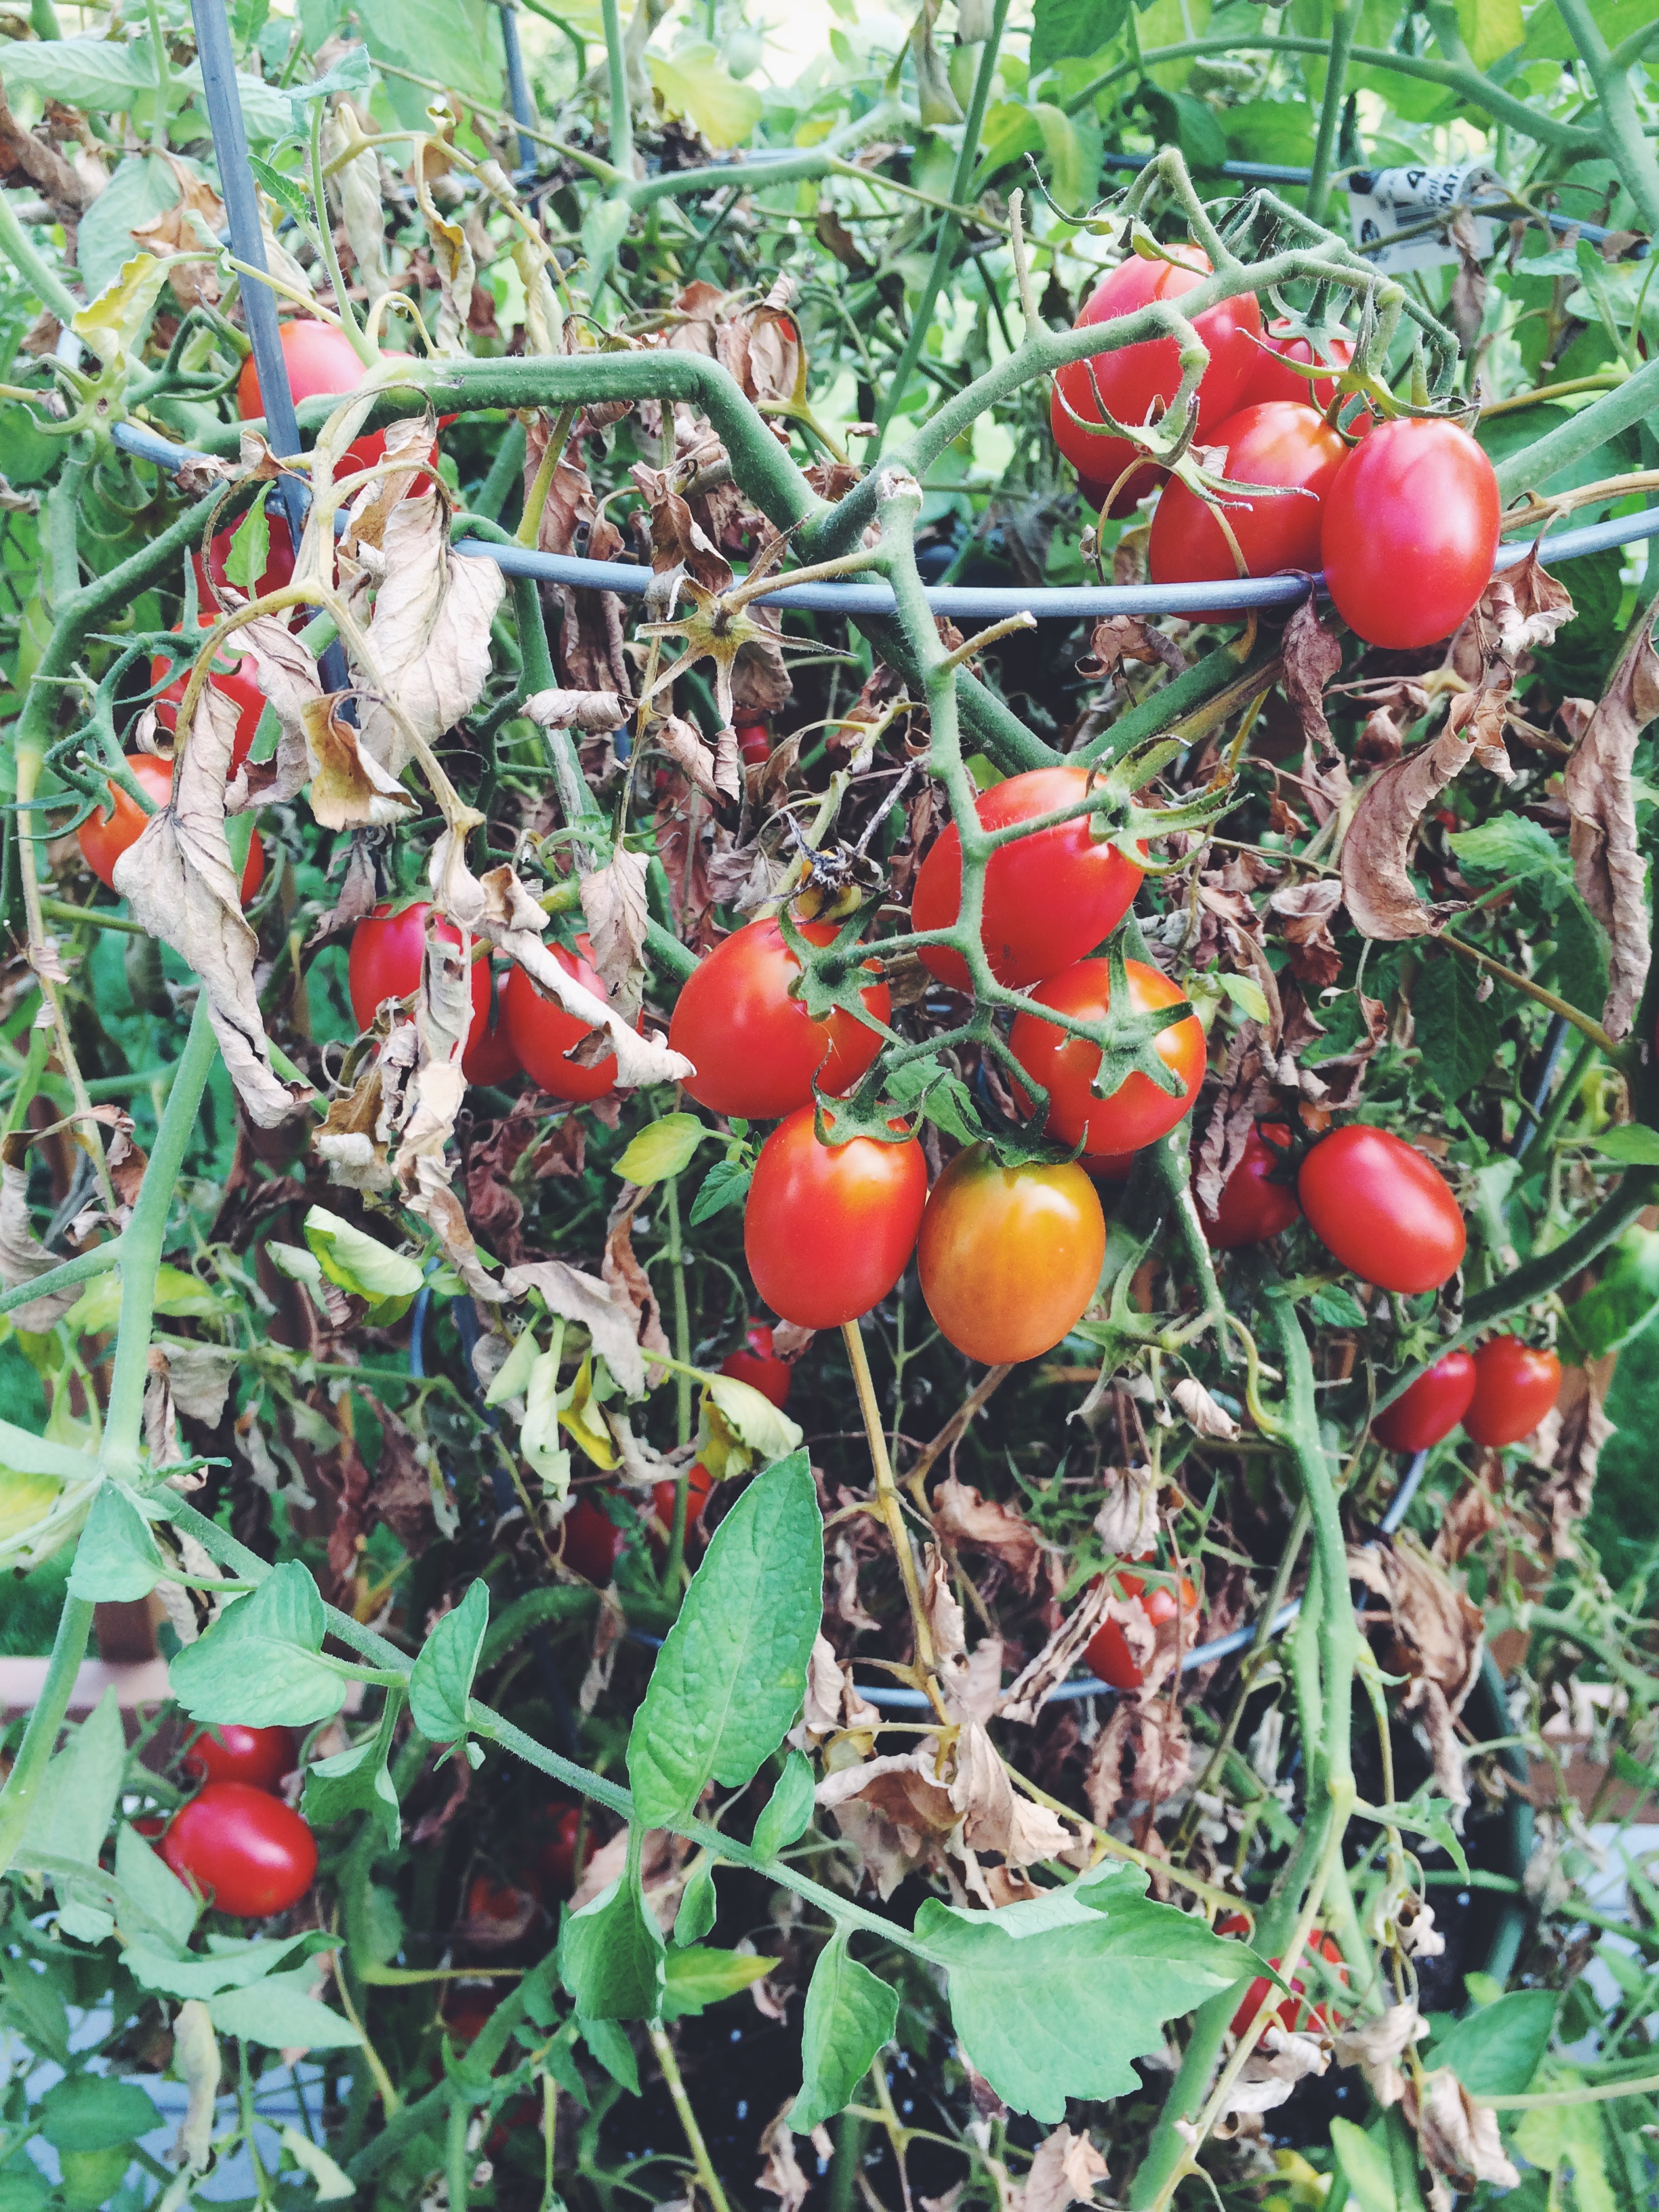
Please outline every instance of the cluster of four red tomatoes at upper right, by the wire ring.
[[[1102, 279], [1075, 327], [1177, 301], [1208, 274], [1197, 248], [1183, 261], [1133, 257]], [[1336, 611], [1367, 644], [1449, 637], [1486, 588], [1502, 520], [1498, 478], [1475, 440], [1444, 418], [1378, 422], [1367, 407], [1338, 429], [1336, 376], [1354, 341], [1336, 330], [1307, 334], [1287, 319], [1263, 330], [1250, 292], [1206, 310], [1192, 327], [1210, 349], [1197, 392], [1197, 442], [1210, 449], [1210, 473], [1274, 489], [1228, 493], [1217, 507], [1179, 478], [1166, 482], [1148, 542], [1152, 582], [1323, 568]], [[1298, 376], [1292, 363], [1332, 374]], [[1128, 513], [1157, 482], [1104, 418], [1139, 427], [1170, 405], [1179, 383], [1175, 338], [1057, 372], [1055, 442], [1104, 513]]]

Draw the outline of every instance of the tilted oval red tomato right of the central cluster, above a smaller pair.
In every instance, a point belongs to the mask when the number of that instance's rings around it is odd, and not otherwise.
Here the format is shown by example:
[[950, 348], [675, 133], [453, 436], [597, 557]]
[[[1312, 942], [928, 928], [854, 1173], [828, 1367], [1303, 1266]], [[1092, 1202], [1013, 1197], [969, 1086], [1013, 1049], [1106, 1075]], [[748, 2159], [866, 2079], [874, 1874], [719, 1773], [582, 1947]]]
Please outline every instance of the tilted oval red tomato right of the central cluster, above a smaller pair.
[[1360, 1283], [1440, 1290], [1462, 1263], [1469, 1239], [1444, 1175], [1385, 1128], [1349, 1121], [1321, 1137], [1296, 1197], [1314, 1237]]

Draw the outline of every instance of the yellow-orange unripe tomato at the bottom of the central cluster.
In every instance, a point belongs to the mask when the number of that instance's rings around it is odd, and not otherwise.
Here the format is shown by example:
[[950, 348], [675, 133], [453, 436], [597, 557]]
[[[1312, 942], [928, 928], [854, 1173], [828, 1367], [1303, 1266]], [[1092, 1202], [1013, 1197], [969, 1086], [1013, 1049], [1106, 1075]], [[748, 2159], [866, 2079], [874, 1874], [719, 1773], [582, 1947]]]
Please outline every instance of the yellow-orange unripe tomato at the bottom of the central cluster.
[[916, 1243], [929, 1314], [987, 1367], [1053, 1352], [1088, 1310], [1104, 1259], [1106, 1217], [1079, 1166], [1004, 1168], [987, 1144], [933, 1183]]

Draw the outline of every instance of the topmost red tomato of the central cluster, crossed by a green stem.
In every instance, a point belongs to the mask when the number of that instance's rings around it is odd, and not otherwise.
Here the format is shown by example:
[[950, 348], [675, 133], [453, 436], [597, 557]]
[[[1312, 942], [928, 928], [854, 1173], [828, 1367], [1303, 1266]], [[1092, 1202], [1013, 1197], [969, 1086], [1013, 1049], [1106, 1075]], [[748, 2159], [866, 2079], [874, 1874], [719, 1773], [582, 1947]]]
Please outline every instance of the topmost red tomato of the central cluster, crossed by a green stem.
[[[982, 830], [1006, 830], [1088, 796], [1086, 768], [1033, 768], [993, 783], [975, 803]], [[984, 867], [980, 942], [998, 982], [1018, 989], [1082, 960], [1124, 920], [1141, 869], [1115, 845], [1095, 843], [1091, 816], [1000, 845]], [[962, 909], [962, 838], [951, 823], [916, 874], [911, 927], [949, 929]], [[925, 945], [922, 964], [940, 982], [969, 989], [967, 962], [949, 945]]]

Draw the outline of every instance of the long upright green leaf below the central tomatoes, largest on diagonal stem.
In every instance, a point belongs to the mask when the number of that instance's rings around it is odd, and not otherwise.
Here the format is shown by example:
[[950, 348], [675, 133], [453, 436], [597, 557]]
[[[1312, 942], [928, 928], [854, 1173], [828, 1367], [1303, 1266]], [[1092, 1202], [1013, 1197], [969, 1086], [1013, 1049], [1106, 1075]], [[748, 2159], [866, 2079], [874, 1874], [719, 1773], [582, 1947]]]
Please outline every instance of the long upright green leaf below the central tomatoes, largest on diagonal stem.
[[710, 1778], [754, 1778], [801, 1712], [821, 1615], [823, 1517], [794, 1451], [719, 1524], [657, 1652], [628, 1736], [641, 1820], [688, 1820]]

